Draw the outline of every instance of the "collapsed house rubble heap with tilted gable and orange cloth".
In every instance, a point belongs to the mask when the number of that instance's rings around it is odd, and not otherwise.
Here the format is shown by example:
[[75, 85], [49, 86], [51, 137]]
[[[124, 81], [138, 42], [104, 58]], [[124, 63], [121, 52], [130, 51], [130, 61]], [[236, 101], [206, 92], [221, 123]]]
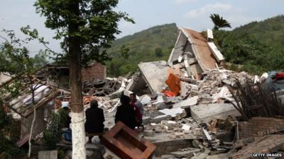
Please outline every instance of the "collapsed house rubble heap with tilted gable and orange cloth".
[[[105, 68], [97, 65], [91, 66], [90, 70], [99, 68], [98, 78], [85, 71], [91, 76], [84, 80], [84, 110], [91, 100], [98, 100], [99, 107], [104, 110], [104, 125], [109, 129], [102, 144], [96, 138], [93, 139], [96, 145], [86, 145], [87, 154], [90, 154], [87, 158], [246, 159], [251, 153], [282, 153], [284, 122], [277, 110], [283, 109], [283, 104], [278, 98], [264, 101], [264, 96], [269, 95], [258, 94], [261, 88], [255, 85], [271, 78], [224, 69], [224, 57], [212, 38], [211, 30], [205, 35], [182, 28], [168, 61], [141, 62], [132, 77], [107, 78]], [[59, 94], [70, 100], [70, 93], [56, 85], [68, 82], [68, 68], [50, 66], [48, 72], [56, 75], [57, 81], [54, 78], [49, 78], [46, 83], [40, 81], [44, 85], [38, 88], [42, 96], [35, 104], [37, 111], [50, 107], [48, 101]], [[55, 84], [49, 85], [50, 81]], [[252, 84], [244, 87], [248, 82]], [[30, 119], [33, 114], [31, 106], [27, 107], [31, 100], [17, 105], [19, 100], [28, 97], [26, 91], [21, 90], [21, 96], [15, 99], [4, 97], [22, 120]], [[145, 110], [143, 129], [138, 127], [134, 131], [124, 124], [114, 124], [120, 95], [132, 92], [139, 96]], [[266, 110], [269, 113], [264, 113]], [[40, 120], [43, 119], [36, 120], [38, 124]], [[72, 151], [70, 145], [59, 146]]]

